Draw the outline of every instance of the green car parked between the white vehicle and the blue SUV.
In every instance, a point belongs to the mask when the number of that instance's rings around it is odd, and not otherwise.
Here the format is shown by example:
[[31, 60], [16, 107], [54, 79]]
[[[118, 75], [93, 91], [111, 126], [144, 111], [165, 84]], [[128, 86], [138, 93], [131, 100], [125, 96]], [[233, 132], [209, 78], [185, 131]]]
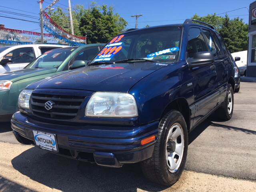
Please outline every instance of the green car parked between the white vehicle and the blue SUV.
[[24, 69], [0, 74], [0, 122], [10, 121], [18, 109], [20, 92], [38, 80], [86, 66], [104, 44], [88, 44], [50, 50]]

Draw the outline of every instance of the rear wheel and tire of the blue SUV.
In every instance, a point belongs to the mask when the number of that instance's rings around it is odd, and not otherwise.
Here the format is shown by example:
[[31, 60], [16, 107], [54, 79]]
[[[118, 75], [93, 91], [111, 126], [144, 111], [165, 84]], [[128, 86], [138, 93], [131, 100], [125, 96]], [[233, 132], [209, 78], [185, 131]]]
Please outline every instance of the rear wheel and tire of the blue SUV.
[[226, 96], [224, 102], [220, 108], [216, 111], [218, 118], [224, 121], [230, 120], [233, 114], [234, 108], [234, 93], [231, 84], [228, 84]]

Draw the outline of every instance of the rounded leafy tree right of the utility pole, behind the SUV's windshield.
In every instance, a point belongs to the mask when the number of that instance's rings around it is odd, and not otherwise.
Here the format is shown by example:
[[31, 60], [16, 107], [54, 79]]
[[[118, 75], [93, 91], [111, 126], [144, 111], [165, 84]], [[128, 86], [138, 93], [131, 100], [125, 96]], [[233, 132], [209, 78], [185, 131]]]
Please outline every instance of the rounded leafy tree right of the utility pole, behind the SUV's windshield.
[[96, 6], [93, 2], [80, 20], [80, 32], [82, 36], [87, 35], [88, 43], [106, 43], [117, 34], [123, 32], [128, 23], [113, 8], [102, 5]]

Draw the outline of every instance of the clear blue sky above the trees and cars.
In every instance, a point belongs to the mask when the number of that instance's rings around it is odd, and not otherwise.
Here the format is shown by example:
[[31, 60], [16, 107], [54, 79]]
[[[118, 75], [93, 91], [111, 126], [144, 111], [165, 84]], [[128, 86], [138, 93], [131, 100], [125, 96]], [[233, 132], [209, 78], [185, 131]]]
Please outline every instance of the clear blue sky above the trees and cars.
[[[174, 24], [182, 23], [184, 19], [191, 18], [195, 13], [199, 16], [205, 16], [213, 13], [223, 13], [237, 8], [248, 7], [253, 0], [95, 0], [98, 5], [107, 4], [114, 7], [114, 12], [120, 14], [125, 20], [128, 21], [127, 28], [134, 28], [135, 18], [132, 18], [133, 14], [143, 14], [138, 19], [139, 28], [143, 28], [147, 24], [150, 26], [162, 25], [162, 24]], [[52, 0], [45, 0], [43, 7], [48, 6], [48, 2]], [[85, 8], [92, 2], [92, 0], [71, 0], [71, 5], [82, 4]], [[60, 4], [56, 4], [63, 8], [67, 8], [68, 0], [60, 0]], [[11, 10], [1, 6], [15, 8], [18, 10]], [[56, 6], [54, 6], [56, 7]], [[0, 11], [11, 11], [22, 14], [28, 14], [32, 16], [39, 12], [38, 0], [1, 0]], [[31, 13], [28, 13], [31, 12]], [[222, 14], [224, 16], [225, 14]], [[244, 19], [244, 22], [248, 23], [248, 10], [242, 8], [233, 12], [228, 12], [230, 18], [240, 15], [240, 18]], [[0, 16], [10, 16], [10, 14], [0, 12]], [[18, 17], [12, 15], [11, 17]], [[30, 18], [23, 18], [30, 20]], [[32, 20], [32, 19], [31, 19]], [[36, 20], [34, 20], [36, 21]], [[8, 18], [0, 17], [0, 24], [5, 24], [7, 28], [15, 28], [20, 30], [34, 30], [40, 32], [39, 24], [12, 20]]]

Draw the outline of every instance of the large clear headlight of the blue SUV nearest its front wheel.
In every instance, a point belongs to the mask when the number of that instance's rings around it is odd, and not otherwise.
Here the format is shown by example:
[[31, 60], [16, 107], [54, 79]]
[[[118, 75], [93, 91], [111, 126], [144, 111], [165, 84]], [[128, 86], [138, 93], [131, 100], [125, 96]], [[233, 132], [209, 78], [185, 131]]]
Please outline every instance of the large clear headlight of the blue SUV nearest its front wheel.
[[96, 92], [86, 106], [85, 115], [88, 117], [136, 117], [138, 109], [131, 94]]

